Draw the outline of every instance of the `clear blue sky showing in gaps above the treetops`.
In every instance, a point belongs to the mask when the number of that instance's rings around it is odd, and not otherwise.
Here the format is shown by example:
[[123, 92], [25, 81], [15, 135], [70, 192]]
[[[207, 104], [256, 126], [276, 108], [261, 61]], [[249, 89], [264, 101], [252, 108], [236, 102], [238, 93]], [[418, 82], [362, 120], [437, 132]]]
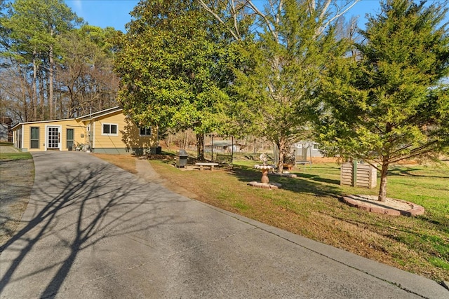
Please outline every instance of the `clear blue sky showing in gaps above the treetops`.
[[[255, 3], [262, 0], [255, 0]], [[65, 0], [67, 6], [89, 25], [98, 27], [114, 27], [116, 30], [126, 32], [125, 25], [130, 22], [130, 11], [138, 5], [138, 0]], [[347, 14], [358, 15], [360, 27], [366, 23], [366, 13], [375, 15], [380, 11], [379, 0], [361, 0]]]

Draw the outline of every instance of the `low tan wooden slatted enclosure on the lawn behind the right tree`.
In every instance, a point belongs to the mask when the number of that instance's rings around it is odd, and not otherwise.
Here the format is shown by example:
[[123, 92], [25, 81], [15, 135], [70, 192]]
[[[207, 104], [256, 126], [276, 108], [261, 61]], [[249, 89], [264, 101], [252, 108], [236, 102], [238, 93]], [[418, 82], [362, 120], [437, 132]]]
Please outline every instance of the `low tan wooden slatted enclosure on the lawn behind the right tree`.
[[340, 172], [340, 185], [359, 188], [376, 188], [377, 170], [364, 163], [343, 163]]

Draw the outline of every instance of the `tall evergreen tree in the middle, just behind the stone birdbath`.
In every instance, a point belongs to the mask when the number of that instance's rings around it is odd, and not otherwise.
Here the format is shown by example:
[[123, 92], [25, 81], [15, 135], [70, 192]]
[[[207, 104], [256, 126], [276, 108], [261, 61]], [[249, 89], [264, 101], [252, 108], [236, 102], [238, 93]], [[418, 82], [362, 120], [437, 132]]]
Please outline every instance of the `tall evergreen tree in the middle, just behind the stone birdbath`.
[[264, 28], [255, 43], [242, 47], [247, 63], [236, 69], [233, 99], [238, 130], [247, 127], [272, 141], [283, 172], [293, 143], [310, 138], [321, 72], [341, 47], [332, 28], [316, 34], [323, 27], [320, 9], [310, 10], [307, 1], [280, 8], [272, 31]]

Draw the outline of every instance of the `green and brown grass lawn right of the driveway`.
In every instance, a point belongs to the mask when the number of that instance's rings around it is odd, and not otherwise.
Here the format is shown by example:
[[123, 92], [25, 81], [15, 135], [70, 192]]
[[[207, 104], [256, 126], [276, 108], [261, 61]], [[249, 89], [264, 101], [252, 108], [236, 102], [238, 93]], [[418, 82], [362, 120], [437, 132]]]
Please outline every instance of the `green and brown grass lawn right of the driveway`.
[[236, 160], [232, 169], [182, 172], [151, 161], [161, 176], [198, 195], [198, 200], [257, 221], [415, 272], [449, 280], [449, 167], [391, 167], [387, 196], [415, 202], [422, 216], [388, 216], [349, 207], [347, 194], [377, 189], [340, 186], [335, 163], [294, 168], [297, 178], [269, 176], [280, 190], [252, 188], [259, 181], [254, 161]]

